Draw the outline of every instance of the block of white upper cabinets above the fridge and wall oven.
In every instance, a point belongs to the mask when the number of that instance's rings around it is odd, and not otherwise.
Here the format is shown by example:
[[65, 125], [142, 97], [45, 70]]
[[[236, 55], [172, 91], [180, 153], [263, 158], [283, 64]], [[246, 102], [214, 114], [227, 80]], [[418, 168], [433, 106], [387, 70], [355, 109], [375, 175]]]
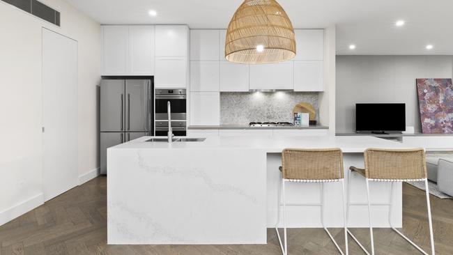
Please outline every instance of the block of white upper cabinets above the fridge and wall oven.
[[155, 88], [186, 88], [185, 25], [102, 26], [102, 75], [155, 76]]

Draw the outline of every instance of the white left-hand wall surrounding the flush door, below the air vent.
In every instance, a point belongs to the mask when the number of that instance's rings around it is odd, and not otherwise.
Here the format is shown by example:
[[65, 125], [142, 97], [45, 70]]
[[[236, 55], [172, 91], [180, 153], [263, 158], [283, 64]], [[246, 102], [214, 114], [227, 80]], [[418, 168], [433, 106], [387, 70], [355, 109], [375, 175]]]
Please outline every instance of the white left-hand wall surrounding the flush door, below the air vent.
[[0, 225], [43, 203], [43, 26], [78, 41], [79, 175], [99, 165], [100, 24], [64, 1], [43, 2], [61, 12], [61, 27], [0, 1]]

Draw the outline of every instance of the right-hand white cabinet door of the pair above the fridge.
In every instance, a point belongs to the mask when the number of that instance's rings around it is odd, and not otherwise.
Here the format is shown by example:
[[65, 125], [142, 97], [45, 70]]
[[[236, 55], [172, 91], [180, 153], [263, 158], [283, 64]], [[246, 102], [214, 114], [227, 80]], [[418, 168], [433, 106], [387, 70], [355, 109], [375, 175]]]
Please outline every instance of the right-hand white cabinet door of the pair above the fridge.
[[154, 26], [129, 26], [130, 75], [154, 75]]

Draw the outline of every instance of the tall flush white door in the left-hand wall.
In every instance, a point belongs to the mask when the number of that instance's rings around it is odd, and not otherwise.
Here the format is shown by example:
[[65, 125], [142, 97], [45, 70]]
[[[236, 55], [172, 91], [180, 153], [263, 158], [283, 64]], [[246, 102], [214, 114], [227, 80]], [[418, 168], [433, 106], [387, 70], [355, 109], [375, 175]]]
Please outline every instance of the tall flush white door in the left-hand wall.
[[45, 201], [77, 186], [77, 41], [43, 28]]

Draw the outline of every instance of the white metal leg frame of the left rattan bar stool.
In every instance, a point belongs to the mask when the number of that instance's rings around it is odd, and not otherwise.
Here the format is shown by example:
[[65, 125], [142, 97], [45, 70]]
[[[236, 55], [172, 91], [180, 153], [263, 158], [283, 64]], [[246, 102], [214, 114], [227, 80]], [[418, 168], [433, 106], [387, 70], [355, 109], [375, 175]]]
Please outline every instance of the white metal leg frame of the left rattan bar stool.
[[[321, 224], [323, 226], [323, 229], [324, 231], [328, 234], [329, 238], [332, 240], [332, 242], [334, 243], [335, 247], [337, 247], [339, 253], [341, 255], [344, 255], [345, 253], [341, 250], [341, 248], [339, 247], [337, 241], [335, 241], [335, 239], [333, 238], [332, 234], [330, 233], [330, 231], [327, 229], [327, 227], [325, 226], [324, 224], [324, 183], [331, 183], [331, 182], [341, 182], [341, 194], [343, 196], [343, 218], [344, 218], [344, 241], [345, 241], [345, 249], [346, 249], [346, 255], [348, 255], [348, 229], [346, 227], [346, 206], [345, 206], [345, 201], [346, 201], [346, 196], [345, 196], [345, 192], [344, 192], [344, 179], [340, 179], [340, 180], [288, 180], [288, 179], [284, 179], [282, 178], [282, 184], [281, 184], [281, 188], [279, 188], [279, 192], [281, 191], [282, 192], [282, 196], [280, 196], [280, 193], [279, 193], [279, 197], [278, 197], [278, 206], [277, 206], [277, 223], [275, 224], [275, 231], [277, 232], [277, 238], [279, 240], [279, 244], [280, 244], [280, 248], [282, 249], [282, 254], [283, 255], [287, 255], [288, 254], [288, 245], [287, 245], [287, 242], [286, 242], [286, 238], [287, 238], [287, 234], [286, 234], [286, 201], [285, 201], [285, 182], [286, 181], [289, 181], [289, 182], [298, 182], [298, 183], [320, 183], [321, 184], [321, 203], [309, 203], [309, 204], [305, 204], [305, 203], [291, 203], [289, 204], [290, 206], [320, 206], [320, 212], [321, 212]], [[282, 199], [282, 201], [280, 201], [280, 199]], [[280, 238], [280, 233], [278, 231], [278, 224], [279, 224], [279, 221], [280, 221], [280, 206], [283, 206], [283, 231], [284, 231], [284, 240], [282, 242], [282, 238]]]

